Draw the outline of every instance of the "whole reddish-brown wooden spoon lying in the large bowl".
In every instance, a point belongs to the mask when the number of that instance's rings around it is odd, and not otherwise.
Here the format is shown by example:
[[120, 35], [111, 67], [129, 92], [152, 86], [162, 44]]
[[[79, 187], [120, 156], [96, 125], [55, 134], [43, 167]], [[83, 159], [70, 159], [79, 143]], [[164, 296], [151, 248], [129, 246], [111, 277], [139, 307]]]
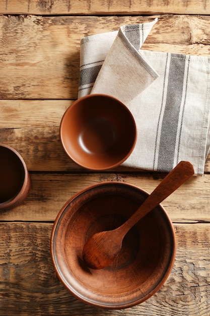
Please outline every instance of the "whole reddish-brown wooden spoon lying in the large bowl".
[[92, 269], [109, 266], [119, 254], [126, 233], [193, 174], [192, 165], [181, 161], [124, 224], [114, 230], [93, 235], [83, 248], [83, 259], [87, 266]]

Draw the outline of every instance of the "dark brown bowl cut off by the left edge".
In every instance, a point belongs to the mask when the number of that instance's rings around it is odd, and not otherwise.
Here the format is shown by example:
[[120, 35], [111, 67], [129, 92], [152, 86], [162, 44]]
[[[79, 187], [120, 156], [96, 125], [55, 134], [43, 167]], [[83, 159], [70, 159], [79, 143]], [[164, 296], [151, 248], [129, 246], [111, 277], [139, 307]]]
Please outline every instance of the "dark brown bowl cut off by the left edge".
[[18, 151], [0, 144], [0, 210], [24, 201], [30, 189], [30, 176]]

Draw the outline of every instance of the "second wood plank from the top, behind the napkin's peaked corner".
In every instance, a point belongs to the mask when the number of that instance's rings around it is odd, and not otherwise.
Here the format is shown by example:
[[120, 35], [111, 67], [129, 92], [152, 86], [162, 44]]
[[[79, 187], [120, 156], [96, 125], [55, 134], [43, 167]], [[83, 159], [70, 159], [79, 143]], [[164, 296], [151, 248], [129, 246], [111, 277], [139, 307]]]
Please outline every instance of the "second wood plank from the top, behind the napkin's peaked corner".
[[[0, 16], [0, 98], [76, 99], [81, 38], [153, 19]], [[210, 16], [161, 16], [143, 48], [209, 56], [209, 23]]]

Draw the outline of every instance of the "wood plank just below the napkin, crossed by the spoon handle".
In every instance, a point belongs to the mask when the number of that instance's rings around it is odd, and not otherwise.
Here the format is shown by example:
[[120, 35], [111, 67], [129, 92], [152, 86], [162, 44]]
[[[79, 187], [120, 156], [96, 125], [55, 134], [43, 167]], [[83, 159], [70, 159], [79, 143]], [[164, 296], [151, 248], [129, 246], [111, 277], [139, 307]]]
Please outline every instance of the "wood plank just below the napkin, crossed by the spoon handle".
[[[159, 173], [68, 173], [31, 174], [27, 199], [14, 209], [0, 213], [0, 221], [54, 221], [64, 203], [75, 193], [103, 181], [121, 181], [151, 193], [166, 174]], [[162, 205], [174, 223], [210, 222], [210, 175], [193, 177]]]

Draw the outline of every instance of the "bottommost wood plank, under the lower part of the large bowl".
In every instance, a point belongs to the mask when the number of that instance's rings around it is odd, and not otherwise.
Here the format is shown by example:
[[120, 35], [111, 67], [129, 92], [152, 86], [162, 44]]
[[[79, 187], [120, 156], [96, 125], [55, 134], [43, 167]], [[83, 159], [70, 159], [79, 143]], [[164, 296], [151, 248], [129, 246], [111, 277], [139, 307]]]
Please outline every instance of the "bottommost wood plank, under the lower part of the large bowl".
[[47, 223], [0, 223], [0, 315], [208, 314], [209, 224], [175, 225], [177, 254], [168, 280], [148, 301], [126, 311], [93, 308], [65, 290], [50, 259], [51, 229]]

